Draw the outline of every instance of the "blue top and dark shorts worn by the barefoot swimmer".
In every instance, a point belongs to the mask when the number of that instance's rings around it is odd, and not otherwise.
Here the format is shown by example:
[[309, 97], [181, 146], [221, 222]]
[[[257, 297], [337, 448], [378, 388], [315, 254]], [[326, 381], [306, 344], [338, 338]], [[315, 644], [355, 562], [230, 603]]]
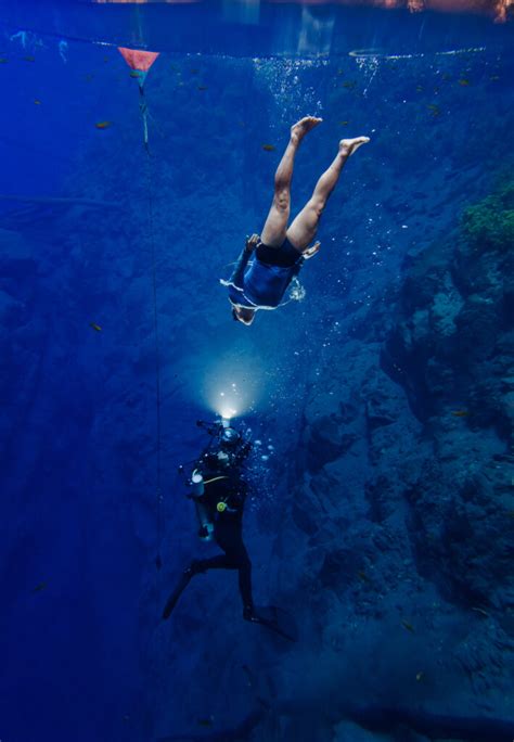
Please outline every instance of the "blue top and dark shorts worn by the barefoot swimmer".
[[277, 309], [304, 258], [288, 240], [281, 247], [259, 243], [252, 261], [250, 256], [244, 247], [229, 281], [222, 282], [229, 289], [229, 299], [248, 309]]

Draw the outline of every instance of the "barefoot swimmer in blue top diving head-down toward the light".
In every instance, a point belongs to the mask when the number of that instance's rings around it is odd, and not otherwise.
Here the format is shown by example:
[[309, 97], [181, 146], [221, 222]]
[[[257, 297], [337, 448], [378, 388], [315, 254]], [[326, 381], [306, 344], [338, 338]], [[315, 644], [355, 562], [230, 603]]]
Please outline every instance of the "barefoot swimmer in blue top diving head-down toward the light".
[[262, 233], [260, 238], [253, 234], [246, 240], [232, 276], [221, 281], [229, 289], [232, 316], [243, 324], [252, 324], [258, 309], [277, 309], [304, 261], [318, 253], [320, 242], [310, 247], [309, 244], [343, 166], [359, 146], [370, 141], [368, 137], [340, 140], [337, 155], [318, 180], [312, 196], [287, 226], [295, 155], [306, 133], [321, 121], [321, 118], [305, 116], [291, 127], [290, 142], [274, 176], [273, 202]]

